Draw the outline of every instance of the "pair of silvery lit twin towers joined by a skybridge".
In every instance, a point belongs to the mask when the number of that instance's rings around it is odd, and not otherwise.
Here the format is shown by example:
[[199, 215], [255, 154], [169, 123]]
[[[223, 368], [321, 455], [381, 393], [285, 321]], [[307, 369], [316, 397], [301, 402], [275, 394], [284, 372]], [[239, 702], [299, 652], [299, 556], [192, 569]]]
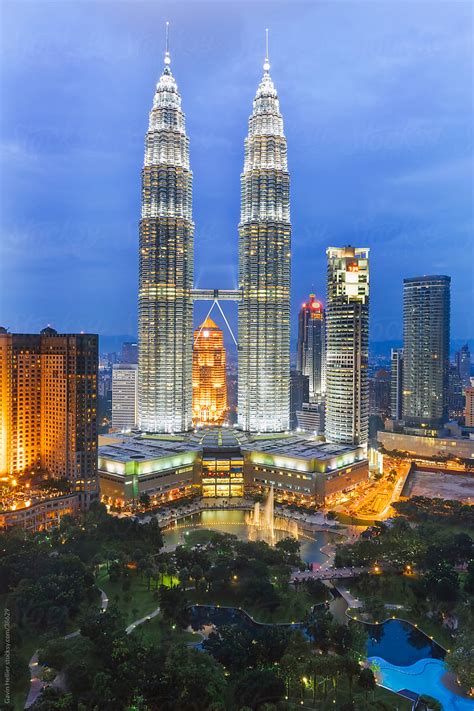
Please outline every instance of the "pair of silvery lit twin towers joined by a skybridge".
[[[250, 432], [289, 427], [289, 174], [269, 70], [267, 51], [245, 139], [239, 289], [224, 292], [238, 301], [238, 424]], [[139, 424], [145, 432], [191, 428], [193, 302], [210, 298], [193, 289], [193, 235], [189, 138], [167, 49], [142, 172]]]

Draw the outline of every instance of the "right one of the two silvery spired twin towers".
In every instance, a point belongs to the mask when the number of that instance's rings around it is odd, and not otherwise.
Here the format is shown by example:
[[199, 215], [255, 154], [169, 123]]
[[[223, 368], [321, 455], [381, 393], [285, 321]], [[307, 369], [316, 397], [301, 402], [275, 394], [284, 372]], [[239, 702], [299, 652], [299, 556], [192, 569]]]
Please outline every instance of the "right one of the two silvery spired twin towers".
[[281, 432], [290, 410], [290, 178], [267, 57], [245, 139], [239, 224], [238, 424]]

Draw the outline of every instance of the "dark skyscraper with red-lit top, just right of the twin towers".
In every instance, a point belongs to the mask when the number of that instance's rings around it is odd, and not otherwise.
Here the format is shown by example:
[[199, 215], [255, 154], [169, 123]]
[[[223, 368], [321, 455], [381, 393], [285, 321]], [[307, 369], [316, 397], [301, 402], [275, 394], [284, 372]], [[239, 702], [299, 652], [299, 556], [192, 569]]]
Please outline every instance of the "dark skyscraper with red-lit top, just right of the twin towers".
[[324, 309], [314, 294], [309, 295], [298, 316], [296, 370], [309, 377], [309, 399], [315, 402], [325, 392]]

